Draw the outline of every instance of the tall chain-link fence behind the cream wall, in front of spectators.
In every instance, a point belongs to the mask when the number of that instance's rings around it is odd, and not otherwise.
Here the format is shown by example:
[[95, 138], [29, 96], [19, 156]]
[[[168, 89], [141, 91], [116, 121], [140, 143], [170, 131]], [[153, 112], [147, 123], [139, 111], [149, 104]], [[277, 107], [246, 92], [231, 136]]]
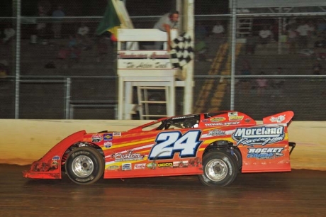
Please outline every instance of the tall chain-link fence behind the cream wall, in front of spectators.
[[[180, 4], [124, 2], [135, 28], [152, 28]], [[244, 2], [195, 1], [193, 112], [235, 109], [262, 119], [293, 110], [297, 121], [325, 121], [325, 4]], [[0, 118], [116, 118], [116, 45], [95, 34], [106, 4], [1, 1]], [[176, 91], [181, 114], [183, 89]]]

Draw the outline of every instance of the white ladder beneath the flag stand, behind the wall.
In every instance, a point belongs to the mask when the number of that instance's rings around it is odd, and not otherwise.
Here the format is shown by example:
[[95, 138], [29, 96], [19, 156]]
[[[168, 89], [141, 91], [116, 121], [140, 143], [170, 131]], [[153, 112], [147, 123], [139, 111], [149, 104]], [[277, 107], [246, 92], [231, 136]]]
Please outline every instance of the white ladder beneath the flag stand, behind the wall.
[[[155, 101], [155, 100], [150, 100], [149, 96], [150, 90], [159, 90], [163, 89], [165, 92], [165, 101]], [[140, 120], [148, 120], [150, 117], [164, 117], [167, 116], [168, 113], [168, 103], [169, 103], [169, 87], [164, 86], [164, 87], [149, 87], [149, 86], [137, 86], [137, 98], [138, 98], [138, 111], [140, 115]], [[165, 104], [165, 113], [164, 114], [150, 114], [150, 104]]]

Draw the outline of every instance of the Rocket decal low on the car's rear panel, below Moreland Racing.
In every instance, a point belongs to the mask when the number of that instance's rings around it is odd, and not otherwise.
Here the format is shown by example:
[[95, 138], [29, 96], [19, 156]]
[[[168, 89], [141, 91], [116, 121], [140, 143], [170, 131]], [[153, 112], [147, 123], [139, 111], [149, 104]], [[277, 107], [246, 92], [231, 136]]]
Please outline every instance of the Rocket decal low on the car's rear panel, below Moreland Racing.
[[248, 148], [248, 158], [271, 159], [282, 157], [284, 148]]

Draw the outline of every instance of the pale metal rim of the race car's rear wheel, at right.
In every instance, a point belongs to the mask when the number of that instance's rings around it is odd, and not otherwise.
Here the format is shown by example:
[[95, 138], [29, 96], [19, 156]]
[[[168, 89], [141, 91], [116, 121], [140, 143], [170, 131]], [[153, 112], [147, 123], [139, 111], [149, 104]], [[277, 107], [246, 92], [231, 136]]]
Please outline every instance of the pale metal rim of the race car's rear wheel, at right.
[[225, 179], [227, 172], [227, 164], [220, 159], [210, 160], [205, 167], [206, 176], [213, 182]]

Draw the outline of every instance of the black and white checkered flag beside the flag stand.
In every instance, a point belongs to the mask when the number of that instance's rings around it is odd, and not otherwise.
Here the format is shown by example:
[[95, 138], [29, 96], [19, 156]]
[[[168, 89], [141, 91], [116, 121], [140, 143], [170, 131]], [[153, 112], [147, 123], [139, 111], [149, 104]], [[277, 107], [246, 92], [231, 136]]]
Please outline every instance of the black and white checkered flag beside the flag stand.
[[193, 60], [191, 37], [188, 33], [182, 33], [172, 41], [170, 57], [172, 66], [180, 69]]

